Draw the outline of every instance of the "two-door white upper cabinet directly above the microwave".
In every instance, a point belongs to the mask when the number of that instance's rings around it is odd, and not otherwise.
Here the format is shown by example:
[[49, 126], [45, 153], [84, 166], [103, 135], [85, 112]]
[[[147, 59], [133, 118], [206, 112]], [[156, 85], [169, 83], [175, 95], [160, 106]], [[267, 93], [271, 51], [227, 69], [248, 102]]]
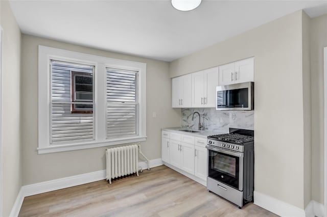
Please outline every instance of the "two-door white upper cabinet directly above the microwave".
[[253, 82], [253, 58], [219, 66], [219, 86]]

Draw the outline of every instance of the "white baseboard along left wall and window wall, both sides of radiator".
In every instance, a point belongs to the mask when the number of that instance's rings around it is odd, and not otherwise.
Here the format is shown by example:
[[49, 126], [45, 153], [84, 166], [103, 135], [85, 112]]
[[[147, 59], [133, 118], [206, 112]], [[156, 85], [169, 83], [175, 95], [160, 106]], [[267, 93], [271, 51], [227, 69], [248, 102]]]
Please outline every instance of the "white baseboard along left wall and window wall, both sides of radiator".
[[[143, 170], [147, 169], [148, 166], [145, 161], [138, 162], [138, 165]], [[149, 160], [149, 167], [158, 167], [162, 165], [161, 158]], [[14, 206], [12, 207], [10, 217], [18, 216], [20, 207], [25, 197], [37, 195], [45, 192], [51, 192], [58, 189], [73, 187], [76, 185], [86, 184], [94, 181], [106, 179], [106, 170], [100, 170], [91, 173], [85, 173], [76, 176], [69, 176], [61, 179], [54, 179], [45, 182], [39, 182], [35, 184], [24, 185], [20, 188], [17, 199]]]

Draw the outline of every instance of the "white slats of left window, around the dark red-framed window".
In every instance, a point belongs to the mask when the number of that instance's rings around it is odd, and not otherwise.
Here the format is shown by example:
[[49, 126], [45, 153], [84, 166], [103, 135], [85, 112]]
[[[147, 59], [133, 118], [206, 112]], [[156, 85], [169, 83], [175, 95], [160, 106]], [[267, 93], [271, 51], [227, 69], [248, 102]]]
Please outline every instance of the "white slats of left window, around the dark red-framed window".
[[[51, 61], [51, 121], [50, 144], [71, 143], [95, 139], [94, 113], [73, 113], [73, 104], [91, 104], [72, 101], [72, 71], [94, 75], [94, 66]], [[93, 110], [90, 108], [90, 110]]]

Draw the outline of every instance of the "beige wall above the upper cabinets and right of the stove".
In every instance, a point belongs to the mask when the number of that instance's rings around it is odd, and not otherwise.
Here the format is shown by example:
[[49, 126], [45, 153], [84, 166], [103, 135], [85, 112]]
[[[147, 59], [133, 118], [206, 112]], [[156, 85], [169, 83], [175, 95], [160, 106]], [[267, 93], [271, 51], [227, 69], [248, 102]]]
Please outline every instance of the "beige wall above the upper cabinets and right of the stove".
[[302, 12], [173, 61], [170, 76], [248, 57], [254, 57], [254, 189], [303, 209], [308, 203], [303, 179], [308, 123], [303, 118]]

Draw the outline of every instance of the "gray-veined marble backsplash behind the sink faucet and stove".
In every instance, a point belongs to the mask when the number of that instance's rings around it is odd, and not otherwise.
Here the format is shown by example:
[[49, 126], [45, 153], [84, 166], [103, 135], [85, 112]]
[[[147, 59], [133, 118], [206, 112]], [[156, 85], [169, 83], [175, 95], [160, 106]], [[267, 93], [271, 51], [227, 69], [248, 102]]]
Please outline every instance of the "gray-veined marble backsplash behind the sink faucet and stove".
[[181, 126], [198, 129], [198, 115], [192, 121], [194, 112], [200, 113], [204, 130], [228, 132], [229, 127], [254, 129], [254, 111], [217, 111], [216, 108], [182, 108]]

